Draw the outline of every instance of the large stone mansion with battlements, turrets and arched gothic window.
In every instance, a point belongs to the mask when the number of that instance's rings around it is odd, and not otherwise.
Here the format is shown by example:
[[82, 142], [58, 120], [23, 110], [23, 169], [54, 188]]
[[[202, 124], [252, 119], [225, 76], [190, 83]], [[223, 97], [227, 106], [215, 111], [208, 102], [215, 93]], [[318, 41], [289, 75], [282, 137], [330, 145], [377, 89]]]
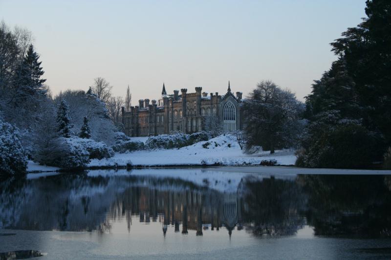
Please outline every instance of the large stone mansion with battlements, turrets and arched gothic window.
[[155, 136], [176, 132], [194, 133], [205, 130], [205, 120], [216, 120], [224, 131], [243, 129], [241, 101], [242, 93], [228, 90], [225, 95], [202, 92], [195, 87], [195, 93], [187, 93], [187, 89], [174, 90], [168, 95], [163, 83], [161, 100], [138, 100], [138, 106], [125, 111], [122, 107], [122, 123], [128, 136]]

